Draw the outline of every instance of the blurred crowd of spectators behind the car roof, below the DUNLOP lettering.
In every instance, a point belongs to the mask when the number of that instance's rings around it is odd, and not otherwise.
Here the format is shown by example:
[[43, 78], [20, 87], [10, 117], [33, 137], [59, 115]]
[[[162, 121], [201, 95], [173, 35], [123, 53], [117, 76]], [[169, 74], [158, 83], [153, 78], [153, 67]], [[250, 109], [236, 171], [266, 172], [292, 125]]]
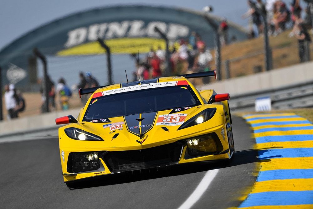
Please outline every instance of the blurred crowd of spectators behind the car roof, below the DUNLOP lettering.
[[[227, 22], [224, 21], [223, 31], [226, 31]], [[223, 36], [226, 44], [226, 35]], [[178, 44], [173, 43], [169, 50], [169, 63], [167, 64], [165, 49], [158, 46], [156, 50], [151, 49], [145, 58], [136, 60], [136, 71], [133, 73], [133, 81], [140, 79], [151, 79], [164, 75], [167, 65], [169, 65], [171, 75], [209, 71], [213, 57], [210, 50], [200, 35], [192, 32], [189, 39], [180, 39]]]

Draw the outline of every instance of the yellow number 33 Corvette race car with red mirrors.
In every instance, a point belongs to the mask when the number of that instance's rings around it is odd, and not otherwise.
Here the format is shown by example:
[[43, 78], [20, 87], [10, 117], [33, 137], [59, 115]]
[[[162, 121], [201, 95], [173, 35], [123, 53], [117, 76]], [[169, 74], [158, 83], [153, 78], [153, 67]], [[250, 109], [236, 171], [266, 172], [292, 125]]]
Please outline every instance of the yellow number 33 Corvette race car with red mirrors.
[[215, 71], [80, 89], [92, 93], [77, 118], [56, 124], [64, 183], [234, 154], [229, 94], [198, 91], [186, 78]]

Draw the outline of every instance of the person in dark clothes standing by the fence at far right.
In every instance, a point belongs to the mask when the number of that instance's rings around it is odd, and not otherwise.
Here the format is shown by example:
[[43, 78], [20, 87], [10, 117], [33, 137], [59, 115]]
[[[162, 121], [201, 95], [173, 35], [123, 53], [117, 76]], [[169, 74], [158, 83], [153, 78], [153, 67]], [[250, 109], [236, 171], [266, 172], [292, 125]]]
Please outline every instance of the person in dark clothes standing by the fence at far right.
[[299, 28], [300, 31], [295, 34], [295, 37], [298, 39], [300, 62], [305, 62], [310, 60], [309, 44], [311, 42], [311, 37], [305, 27], [305, 23], [300, 23]]

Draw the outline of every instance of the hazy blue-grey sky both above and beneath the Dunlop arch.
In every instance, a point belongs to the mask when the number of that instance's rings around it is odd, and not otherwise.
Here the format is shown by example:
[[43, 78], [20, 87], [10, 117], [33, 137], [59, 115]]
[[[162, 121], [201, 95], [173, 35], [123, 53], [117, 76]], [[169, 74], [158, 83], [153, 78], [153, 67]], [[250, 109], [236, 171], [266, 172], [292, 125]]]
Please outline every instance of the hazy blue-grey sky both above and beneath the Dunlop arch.
[[[291, 0], [285, 0], [287, 4], [290, 2]], [[246, 0], [2, 0], [0, 7], [0, 50], [21, 35], [55, 19], [92, 8], [127, 4], [161, 5], [197, 11], [202, 11], [205, 6], [212, 6], [212, 14], [248, 28], [248, 19], [241, 18], [242, 14], [248, 10]], [[305, 7], [303, 1], [302, 5]], [[79, 71], [91, 71], [99, 79], [100, 85], [106, 83], [106, 73], [103, 73], [106, 69], [106, 61], [103, 55], [67, 59], [52, 56], [47, 59], [49, 74], [54, 81], [63, 75], [71, 86], [78, 81]], [[124, 79], [125, 69], [130, 73], [135, 69], [134, 61], [129, 55], [116, 55], [112, 56], [111, 59], [115, 82], [121, 82]], [[38, 76], [41, 77], [42, 66], [40, 62], [38, 65]], [[64, 69], [68, 72], [65, 75]]]

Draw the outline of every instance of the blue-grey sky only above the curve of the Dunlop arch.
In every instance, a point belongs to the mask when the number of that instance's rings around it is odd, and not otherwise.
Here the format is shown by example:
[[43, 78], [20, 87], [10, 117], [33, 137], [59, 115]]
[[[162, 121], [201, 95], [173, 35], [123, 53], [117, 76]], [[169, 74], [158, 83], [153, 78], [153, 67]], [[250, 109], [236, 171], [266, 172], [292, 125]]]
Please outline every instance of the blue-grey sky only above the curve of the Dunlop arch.
[[213, 6], [214, 15], [226, 17], [243, 26], [248, 25], [247, 19], [241, 19], [241, 14], [247, 10], [245, 0], [2, 0], [0, 8], [0, 49], [28, 31], [56, 18], [82, 10], [116, 4], [163, 5], [190, 8], [198, 11], [202, 11], [203, 7], [211, 5]]

